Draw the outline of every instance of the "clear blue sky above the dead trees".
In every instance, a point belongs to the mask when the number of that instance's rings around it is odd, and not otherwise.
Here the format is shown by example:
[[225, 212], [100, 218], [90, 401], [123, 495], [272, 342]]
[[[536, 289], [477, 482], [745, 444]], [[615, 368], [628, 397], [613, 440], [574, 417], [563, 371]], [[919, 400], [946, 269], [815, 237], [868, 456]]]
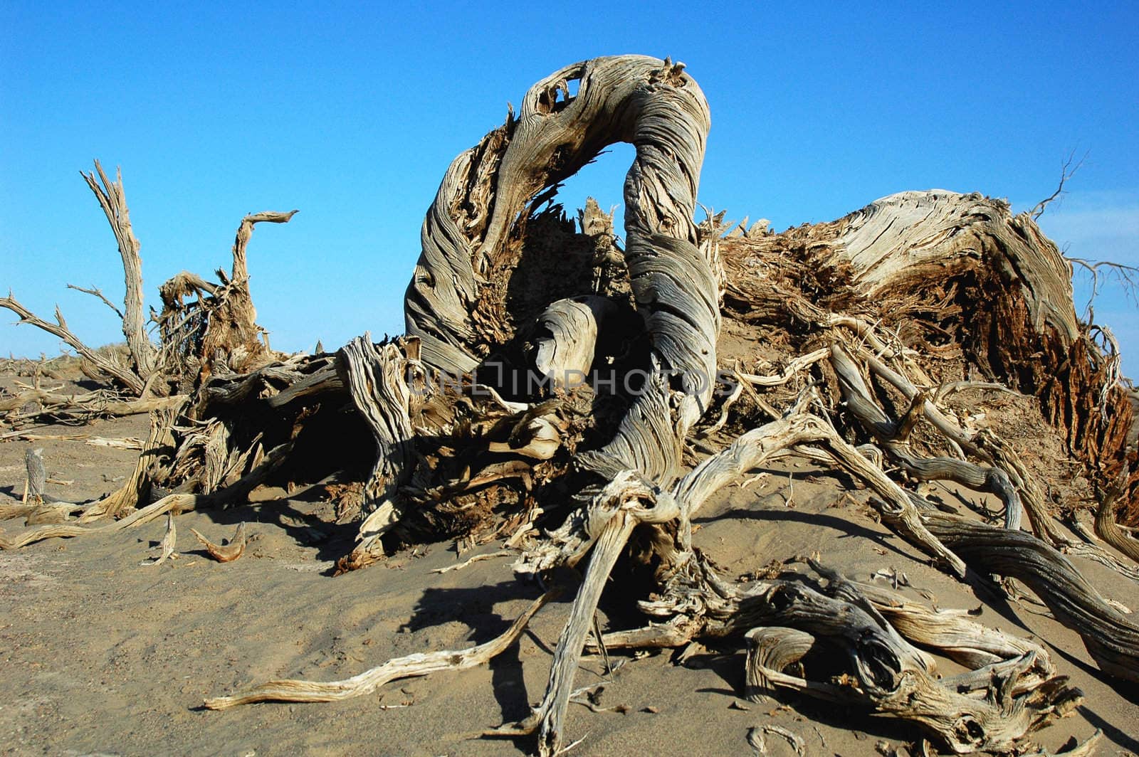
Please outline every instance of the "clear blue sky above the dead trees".
[[[906, 189], [1031, 207], [1088, 153], [1042, 227], [1071, 255], [1139, 264], [1139, 5], [657, 1], [0, 2], [0, 288], [88, 343], [122, 297], [114, 238], [79, 176], [123, 168], [147, 303], [179, 270], [227, 265], [248, 212], [301, 213], [249, 247], [260, 322], [282, 349], [400, 332], [423, 213], [508, 100], [599, 55], [688, 64], [713, 127], [700, 200], [777, 229]], [[621, 146], [563, 191], [621, 200]], [[1136, 306], [1097, 320], [1139, 376]], [[0, 354], [59, 342], [0, 311]], [[1134, 353], [1133, 355], [1131, 353]]]

